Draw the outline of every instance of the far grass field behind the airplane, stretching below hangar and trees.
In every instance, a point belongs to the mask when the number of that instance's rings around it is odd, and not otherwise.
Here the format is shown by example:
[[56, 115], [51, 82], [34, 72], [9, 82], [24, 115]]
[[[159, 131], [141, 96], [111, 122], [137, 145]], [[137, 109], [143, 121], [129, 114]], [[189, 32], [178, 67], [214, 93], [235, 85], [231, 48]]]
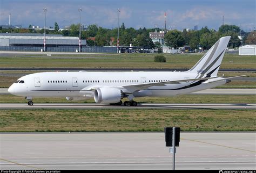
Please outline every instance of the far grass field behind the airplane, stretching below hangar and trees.
[[[165, 63], [154, 62], [156, 54], [93, 54], [1, 56], [0, 67], [12, 68], [191, 68], [204, 54], [164, 54]], [[29, 63], [28, 63], [29, 62]], [[255, 56], [225, 55], [220, 68], [255, 68]]]

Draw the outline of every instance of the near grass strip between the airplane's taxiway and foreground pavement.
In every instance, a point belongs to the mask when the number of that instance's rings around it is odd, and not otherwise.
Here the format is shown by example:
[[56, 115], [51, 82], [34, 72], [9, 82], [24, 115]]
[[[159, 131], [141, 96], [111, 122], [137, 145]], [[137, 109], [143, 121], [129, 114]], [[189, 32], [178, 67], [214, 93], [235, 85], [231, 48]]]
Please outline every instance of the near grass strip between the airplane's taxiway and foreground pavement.
[[255, 110], [0, 110], [0, 132], [255, 131], [255, 120]]

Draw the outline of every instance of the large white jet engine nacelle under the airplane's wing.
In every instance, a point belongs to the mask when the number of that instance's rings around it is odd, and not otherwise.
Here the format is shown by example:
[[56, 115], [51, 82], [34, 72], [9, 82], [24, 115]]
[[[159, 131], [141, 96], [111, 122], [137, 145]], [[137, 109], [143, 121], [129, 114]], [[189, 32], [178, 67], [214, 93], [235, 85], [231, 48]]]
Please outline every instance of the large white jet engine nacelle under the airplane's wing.
[[94, 91], [94, 99], [96, 103], [118, 103], [122, 98], [124, 98], [124, 95], [122, 91], [117, 88], [103, 87], [97, 88]]

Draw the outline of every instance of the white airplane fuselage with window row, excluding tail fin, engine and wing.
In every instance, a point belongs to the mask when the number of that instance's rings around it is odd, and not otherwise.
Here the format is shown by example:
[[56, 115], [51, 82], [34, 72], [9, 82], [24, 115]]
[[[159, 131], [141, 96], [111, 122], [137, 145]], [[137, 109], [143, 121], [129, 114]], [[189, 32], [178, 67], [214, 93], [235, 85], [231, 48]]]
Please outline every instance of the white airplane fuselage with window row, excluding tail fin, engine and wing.
[[[198, 74], [170, 71], [81, 71], [81, 72], [44, 72], [23, 76], [14, 83], [9, 91], [24, 97], [83, 97], [92, 98], [93, 87], [118, 87], [125, 85], [160, 83], [176, 80], [196, 78]], [[219, 80], [215, 78], [212, 80]], [[177, 84], [163, 84], [151, 86], [133, 92], [134, 97], [144, 96], [174, 96], [191, 93], [207, 88], [223, 85], [226, 80], [211, 82], [180, 82]], [[192, 84], [192, 85], [191, 85]], [[126, 89], [123, 89], [124, 92]]]

